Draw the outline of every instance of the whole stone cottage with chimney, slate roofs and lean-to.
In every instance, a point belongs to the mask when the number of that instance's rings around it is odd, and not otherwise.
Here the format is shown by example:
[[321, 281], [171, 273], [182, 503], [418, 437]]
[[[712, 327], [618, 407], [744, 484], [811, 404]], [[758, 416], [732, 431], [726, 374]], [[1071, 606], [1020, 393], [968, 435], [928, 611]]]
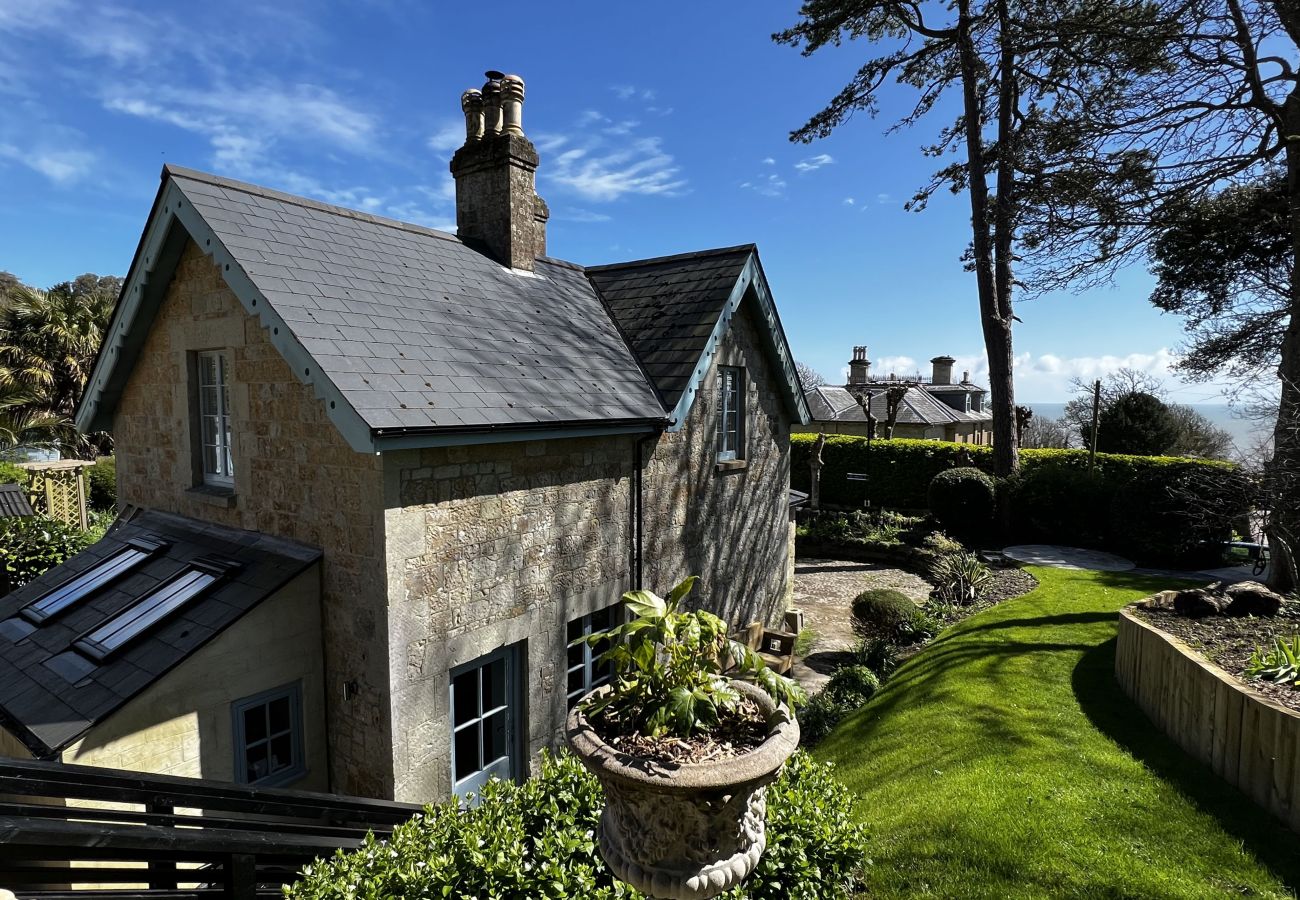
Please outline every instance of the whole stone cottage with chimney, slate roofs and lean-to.
[[556, 741], [624, 590], [780, 615], [758, 252], [546, 256], [523, 99], [462, 98], [456, 235], [164, 168], [77, 415], [121, 519], [0, 601], [12, 752], [441, 800]]

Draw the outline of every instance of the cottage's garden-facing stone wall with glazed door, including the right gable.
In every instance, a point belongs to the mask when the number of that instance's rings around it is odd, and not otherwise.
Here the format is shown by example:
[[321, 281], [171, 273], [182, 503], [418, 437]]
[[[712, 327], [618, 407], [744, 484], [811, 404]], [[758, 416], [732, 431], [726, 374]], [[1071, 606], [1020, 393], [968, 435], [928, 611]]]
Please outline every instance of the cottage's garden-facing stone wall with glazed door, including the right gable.
[[[716, 365], [749, 384], [745, 466], [716, 464]], [[701, 575], [696, 600], [733, 623], [785, 607], [789, 414], [748, 310], [723, 341], [680, 432], [642, 449], [645, 585]], [[566, 624], [632, 587], [637, 437], [572, 438], [385, 455], [395, 796], [451, 792], [450, 676], [519, 645], [523, 749], [560, 740]]]

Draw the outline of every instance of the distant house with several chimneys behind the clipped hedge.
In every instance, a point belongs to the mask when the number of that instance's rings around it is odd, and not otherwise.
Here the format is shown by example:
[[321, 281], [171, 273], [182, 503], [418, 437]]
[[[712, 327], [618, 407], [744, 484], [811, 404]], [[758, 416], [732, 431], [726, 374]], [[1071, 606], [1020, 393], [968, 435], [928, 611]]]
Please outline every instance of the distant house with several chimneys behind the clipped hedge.
[[849, 384], [822, 385], [805, 391], [812, 421], [796, 427], [796, 432], [826, 434], [867, 434], [870, 404], [876, 419], [876, 437], [884, 437], [888, 417], [887, 395], [890, 388], [902, 388], [894, 437], [913, 437], [959, 443], [991, 443], [993, 440], [993, 414], [988, 411], [984, 388], [962, 373], [953, 381], [952, 356], [935, 356], [930, 378], [922, 376], [876, 376], [871, 373], [871, 360], [866, 347], [854, 347], [849, 360]]

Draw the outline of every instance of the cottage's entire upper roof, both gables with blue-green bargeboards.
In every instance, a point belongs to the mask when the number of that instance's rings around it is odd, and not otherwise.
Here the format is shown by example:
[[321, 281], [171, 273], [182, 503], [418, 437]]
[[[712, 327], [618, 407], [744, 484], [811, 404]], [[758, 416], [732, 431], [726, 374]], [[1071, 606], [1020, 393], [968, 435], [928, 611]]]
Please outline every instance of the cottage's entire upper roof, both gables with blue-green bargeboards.
[[[451, 234], [168, 165], [78, 410], [83, 427], [109, 427], [187, 239], [359, 450], [378, 437], [422, 446], [430, 434], [663, 427], [675, 401], [660, 393], [682, 394], [757, 260], [745, 246], [598, 267], [602, 299], [571, 263], [514, 271]], [[788, 358], [775, 311], [770, 320]], [[784, 368], [797, 419], [793, 360]]]

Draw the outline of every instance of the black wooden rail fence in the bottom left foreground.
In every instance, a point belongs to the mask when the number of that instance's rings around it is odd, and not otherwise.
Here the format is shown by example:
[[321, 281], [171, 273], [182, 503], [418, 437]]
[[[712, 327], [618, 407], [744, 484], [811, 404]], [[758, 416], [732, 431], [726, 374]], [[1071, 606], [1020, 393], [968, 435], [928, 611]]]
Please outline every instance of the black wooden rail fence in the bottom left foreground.
[[20, 900], [272, 897], [411, 804], [0, 761], [0, 887]]

